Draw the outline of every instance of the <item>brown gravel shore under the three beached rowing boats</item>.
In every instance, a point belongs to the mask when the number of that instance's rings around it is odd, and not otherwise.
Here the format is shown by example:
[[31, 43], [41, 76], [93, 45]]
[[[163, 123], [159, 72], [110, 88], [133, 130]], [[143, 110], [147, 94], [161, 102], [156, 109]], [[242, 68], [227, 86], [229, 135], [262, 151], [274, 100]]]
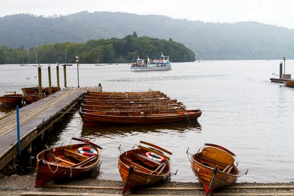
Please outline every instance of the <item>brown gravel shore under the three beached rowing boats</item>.
[[[81, 186], [111, 186], [122, 187], [123, 182], [113, 180], [97, 180], [90, 178], [73, 179], [68, 182], [51, 182], [50, 184], [81, 185]], [[235, 183], [236, 186], [294, 186], [294, 182], [289, 183]], [[157, 187], [202, 187], [196, 182], [165, 182]], [[88, 190], [88, 189], [63, 189], [63, 188], [36, 188], [34, 175], [22, 175], [17, 177], [6, 176], [0, 178], [0, 196], [20, 196], [25, 191], [37, 192], [69, 192], [69, 193], [104, 193], [121, 194], [121, 190]], [[294, 190], [252, 190], [252, 189], [219, 189], [215, 193], [293, 193]], [[132, 190], [128, 194], [144, 195], [205, 195], [204, 191], [153, 191], [153, 190]]]

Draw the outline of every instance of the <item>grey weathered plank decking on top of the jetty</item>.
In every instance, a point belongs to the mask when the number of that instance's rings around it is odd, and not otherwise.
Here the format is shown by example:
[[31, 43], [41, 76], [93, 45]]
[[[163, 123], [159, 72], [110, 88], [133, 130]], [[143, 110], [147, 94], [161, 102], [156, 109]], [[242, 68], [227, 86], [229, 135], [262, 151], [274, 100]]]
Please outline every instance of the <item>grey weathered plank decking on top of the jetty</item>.
[[[47, 98], [21, 108], [21, 149], [25, 148], [30, 141], [42, 133], [38, 132], [37, 126], [43, 123], [43, 119], [49, 119], [50, 116], [56, 114], [81, 94], [87, 91], [99, 91], [100, 89], [101, 87], [63, 89]], [[15, 149], [17, 146], [16, 128], [16, 111], [0, 118], [0, 170], [17, 154], [17, 150]], [[23, 142], [22, 140], [25, 137], [27, 141]], [[7, 154], [9, 154], [8, 158], [6, 156]]]

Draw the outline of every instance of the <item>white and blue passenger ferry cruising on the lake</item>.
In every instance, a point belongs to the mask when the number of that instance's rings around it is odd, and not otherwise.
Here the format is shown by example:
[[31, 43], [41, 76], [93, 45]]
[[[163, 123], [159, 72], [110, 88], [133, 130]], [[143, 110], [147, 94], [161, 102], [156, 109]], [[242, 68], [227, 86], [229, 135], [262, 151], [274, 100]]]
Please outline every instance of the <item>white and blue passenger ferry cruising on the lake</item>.
[[[138, 55], [137, 55], [138, 57]], [[154, 59], [134, 59], [131, 64], [131, 71], [156, 71], [156, 70], [170, 70], [172, 65], [170, 64], [170, 57], [164, 56], [161, 52], [161, 56], [155, 56]]]

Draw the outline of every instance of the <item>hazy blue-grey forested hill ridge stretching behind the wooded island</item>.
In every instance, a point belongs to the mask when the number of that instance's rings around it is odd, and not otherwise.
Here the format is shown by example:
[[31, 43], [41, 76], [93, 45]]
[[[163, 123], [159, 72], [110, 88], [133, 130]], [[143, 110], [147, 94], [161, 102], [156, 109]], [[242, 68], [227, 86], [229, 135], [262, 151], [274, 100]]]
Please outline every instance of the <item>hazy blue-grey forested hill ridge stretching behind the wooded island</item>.
[[85, 43], [91, 39], [138, 36], [184, 44], [196, 59], [294, 58], [294, 29], [257, 22], [203, 23], [158, 15], [121, 12], [79, 12], [68, 16], [18, 14], [0, 18], [0, 46], [26, 49], [41, 44]]

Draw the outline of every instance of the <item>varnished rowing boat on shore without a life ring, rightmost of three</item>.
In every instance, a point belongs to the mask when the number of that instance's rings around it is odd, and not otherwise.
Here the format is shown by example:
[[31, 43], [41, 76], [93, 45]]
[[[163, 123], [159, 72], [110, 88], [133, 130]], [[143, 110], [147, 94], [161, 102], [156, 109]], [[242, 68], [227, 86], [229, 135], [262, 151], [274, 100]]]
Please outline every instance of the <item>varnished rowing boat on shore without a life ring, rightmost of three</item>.
[[214, 189], [231, 185], [241, 176], [238, 163], [234, 163], [236, 155], [233, 152], [215, 144], [204, 144], [200, 149], [192, 154], [190, 161], [192, 171], [203, 184], [206, 195]]

